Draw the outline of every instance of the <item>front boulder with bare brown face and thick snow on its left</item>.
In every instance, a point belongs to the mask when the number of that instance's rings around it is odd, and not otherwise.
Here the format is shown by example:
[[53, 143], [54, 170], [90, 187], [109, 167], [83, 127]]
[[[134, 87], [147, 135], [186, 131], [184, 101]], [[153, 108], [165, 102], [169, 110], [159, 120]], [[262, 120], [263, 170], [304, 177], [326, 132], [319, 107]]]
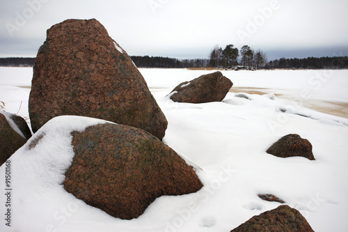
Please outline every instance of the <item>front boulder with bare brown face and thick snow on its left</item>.
[[[118, 208], [123, 218], [137, 217], [157, 196], [189, 194], [203, 187], [190, 166], [194, 164], [185, 160], [144, 130], [97, 118], [57, 116], [8, 159], [15, 173], [11, 212], [17, 212], [11, 228], [45, 231], [47, 224], [66, 226], [57, 212], [66, 206], [69, 213], [88, 211], [81, 219], [95, 214], [111, 218], [105, 212], [117, 216], [102, 208], [103, 201]], [[5, 173], [4, 165], [0, 171]], [[0, 187], [8, 188], [4, 183]], [[4, 197], [0, 200], [6, 202]]]

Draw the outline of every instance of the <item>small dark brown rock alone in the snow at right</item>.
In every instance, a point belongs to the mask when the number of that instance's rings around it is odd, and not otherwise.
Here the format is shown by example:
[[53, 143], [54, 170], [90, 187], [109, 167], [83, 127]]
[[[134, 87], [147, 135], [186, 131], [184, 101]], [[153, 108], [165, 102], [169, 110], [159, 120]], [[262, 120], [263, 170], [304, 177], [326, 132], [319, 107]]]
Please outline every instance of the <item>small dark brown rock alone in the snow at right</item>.
[[299, 134], [287, 134], [274, 143], [267, 153], [278, 157], [302, 156], [308, 160], [315, 160], [312, 144], [307, 139], [302, 139]]

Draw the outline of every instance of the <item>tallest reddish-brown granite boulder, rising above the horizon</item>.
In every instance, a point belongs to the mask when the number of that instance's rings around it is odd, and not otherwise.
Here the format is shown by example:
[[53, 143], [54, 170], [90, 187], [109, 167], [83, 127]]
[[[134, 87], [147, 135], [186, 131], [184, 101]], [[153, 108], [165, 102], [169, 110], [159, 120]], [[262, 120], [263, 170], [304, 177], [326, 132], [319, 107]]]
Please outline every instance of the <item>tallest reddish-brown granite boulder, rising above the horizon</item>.
[[132, 125], [162, 139], [166, 117], [145, 79], [97, 20], [65, 20], [47, 30], [29, 97], [36, 132], [61, 115]]

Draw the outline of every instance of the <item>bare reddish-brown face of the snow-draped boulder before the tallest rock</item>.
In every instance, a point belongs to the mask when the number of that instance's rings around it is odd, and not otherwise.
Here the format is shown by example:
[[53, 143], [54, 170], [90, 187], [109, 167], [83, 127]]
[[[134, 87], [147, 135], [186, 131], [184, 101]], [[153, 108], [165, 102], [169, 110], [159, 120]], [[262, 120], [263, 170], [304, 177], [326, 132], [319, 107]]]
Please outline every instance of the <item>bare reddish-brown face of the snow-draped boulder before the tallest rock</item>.
[[65, 190], [113, 217], [133, 219], [159, 196], [203, 187], [193, 167], [144, 130], [105, 123], [72, 135]]

